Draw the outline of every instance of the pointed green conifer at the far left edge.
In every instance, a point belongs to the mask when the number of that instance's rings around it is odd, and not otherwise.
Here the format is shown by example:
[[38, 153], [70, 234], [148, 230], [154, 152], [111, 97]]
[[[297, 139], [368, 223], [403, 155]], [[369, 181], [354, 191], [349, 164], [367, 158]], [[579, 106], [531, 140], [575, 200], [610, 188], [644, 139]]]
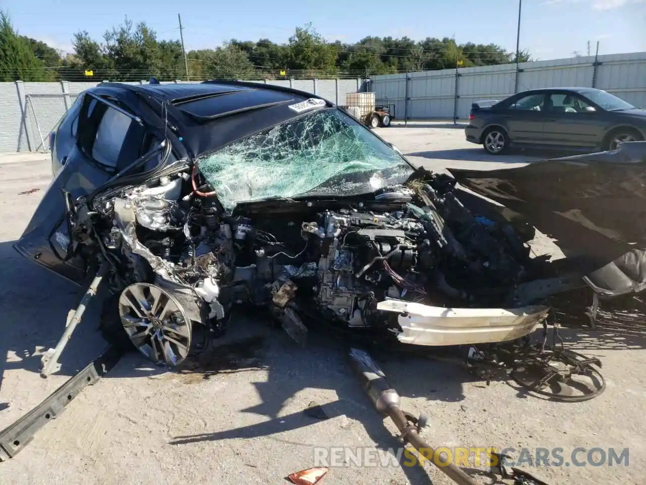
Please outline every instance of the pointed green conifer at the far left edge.
[[49, 81], [45, 63], [28, 41], [18, 36], [9, 16], [0, 12], [0, 81]]

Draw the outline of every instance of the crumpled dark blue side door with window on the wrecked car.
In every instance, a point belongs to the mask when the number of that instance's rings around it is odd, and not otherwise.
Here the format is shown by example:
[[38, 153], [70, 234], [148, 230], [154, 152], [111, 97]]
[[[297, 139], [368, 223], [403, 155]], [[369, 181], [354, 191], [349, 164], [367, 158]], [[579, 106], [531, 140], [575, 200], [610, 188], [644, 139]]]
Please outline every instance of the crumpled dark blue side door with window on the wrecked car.
[[[141, 119], [117, 100], [86, 92], [81, 103], [75, 142], [65, 164], [14, 244], [28, 259], [75, 283], [85, 277], [85, 260], [72, 253], [63, 194], [76, 200], [107, 182], [143, 155], [147, 134]], [[57, 156], [62, 160], [64, 155]]]

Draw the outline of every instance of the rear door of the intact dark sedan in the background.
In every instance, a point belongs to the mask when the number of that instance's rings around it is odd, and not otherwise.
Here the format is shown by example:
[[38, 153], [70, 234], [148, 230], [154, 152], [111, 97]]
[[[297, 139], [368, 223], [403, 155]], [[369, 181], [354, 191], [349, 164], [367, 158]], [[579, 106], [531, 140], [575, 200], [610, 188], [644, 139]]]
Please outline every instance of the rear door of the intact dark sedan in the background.
[[529, 92], [510, 100], [504, 116], [512, 143], [543, 144], [543, 125], [547, 118], [544, 106], [543, 92]]

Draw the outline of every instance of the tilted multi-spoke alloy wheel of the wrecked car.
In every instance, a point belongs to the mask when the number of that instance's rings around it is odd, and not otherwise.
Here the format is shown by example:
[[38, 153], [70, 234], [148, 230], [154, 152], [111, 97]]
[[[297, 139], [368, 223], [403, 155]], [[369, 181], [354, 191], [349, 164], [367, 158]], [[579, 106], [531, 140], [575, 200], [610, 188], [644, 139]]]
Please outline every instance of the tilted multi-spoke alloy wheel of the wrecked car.
[[149, 360], [176, 366], [189, 354], [191, 322], [180, 303], [149, 283], [134, 283], [119, 297], [121, 324]]

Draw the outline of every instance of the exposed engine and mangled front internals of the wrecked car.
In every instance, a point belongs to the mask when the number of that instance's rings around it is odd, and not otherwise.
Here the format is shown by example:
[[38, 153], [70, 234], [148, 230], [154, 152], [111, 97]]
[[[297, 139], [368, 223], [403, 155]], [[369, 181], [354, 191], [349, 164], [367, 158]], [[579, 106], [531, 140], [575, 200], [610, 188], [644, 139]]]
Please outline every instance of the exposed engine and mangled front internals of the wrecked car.
[[234, 303], [269, 305], [302, 326], [318, 310], [348, 327], [384, 325], [388, 298], [496, 307], [525, 273], [528, 250], [508, 224], [472, 214], [452, 179], [424, 174], [353, 200], [240, 204], [200, 197], [189, 173], [95, 201], [111, 227], [102, 246], [118, 293], [145, 281], [219, 329]]

